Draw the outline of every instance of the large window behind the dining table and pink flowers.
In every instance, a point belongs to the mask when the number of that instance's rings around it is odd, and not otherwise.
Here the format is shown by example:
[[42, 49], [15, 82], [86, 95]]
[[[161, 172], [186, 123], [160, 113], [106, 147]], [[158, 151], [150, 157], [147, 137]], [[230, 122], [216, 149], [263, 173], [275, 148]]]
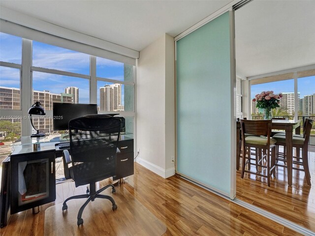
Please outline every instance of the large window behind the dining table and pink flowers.
[[[275, 93], [281, 92], [283, 97], [280, 100], [280, 108], [272, 111], [273, 117], [288, 117], [289, 119], [297, 118], [301, 120], [302, 133], [305, 119], [311, 118], [315, 120], [314, 74], [314, 70], [306, 70], [252, 80], [251, 98], [254, 98], [254, 96], [261, 91], [273, 90]], [[286, 79], [281, 80], [280, 78]], [[295, 80], [297, 82], [296, 88], [294, 87]], [[262, 111], [256, 108], [255, 105], [255, 102], [251, 101], [252, 118], [262, 118]], [[310, 145], [315, 145], [315, 125], [311, 132]]]

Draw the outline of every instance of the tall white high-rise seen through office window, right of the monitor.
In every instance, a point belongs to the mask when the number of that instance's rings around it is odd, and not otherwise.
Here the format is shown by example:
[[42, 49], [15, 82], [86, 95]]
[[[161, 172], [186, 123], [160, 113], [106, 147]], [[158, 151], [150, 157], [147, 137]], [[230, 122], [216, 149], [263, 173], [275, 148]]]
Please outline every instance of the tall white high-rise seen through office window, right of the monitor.
[[124, 111], [122, 102], [122, 85], [105, 85], [99, 88], [100, 111]]

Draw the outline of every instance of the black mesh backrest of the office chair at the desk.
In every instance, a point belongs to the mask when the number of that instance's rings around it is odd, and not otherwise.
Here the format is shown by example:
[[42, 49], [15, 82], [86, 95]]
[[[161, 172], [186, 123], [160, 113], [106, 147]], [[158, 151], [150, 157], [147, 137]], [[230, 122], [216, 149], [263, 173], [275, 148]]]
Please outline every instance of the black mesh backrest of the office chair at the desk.
[[88, 115], [69, 121], [70, 153], [75, 186], [116, 175], [120, 119]]

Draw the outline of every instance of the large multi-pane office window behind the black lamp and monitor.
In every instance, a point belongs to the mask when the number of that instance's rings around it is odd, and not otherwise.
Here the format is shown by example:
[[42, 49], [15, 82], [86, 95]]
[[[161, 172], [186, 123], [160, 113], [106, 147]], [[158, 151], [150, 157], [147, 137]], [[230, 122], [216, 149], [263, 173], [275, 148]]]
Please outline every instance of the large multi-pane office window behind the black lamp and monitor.
[[33, 123], [45, 133], [57, 133], [51, 119], [53, 102], [97, 103], [100, 113], [126, 117], [126, 130], [133, 132], [134, 88], [133, 65], [0, 33], [0, 142], [11, 133], [3, 128], [7, 122], [17, 130], [10, 134], [13, 140], [30, 135], [27, 112], [36, 101], [46, 117], [34, 116]]

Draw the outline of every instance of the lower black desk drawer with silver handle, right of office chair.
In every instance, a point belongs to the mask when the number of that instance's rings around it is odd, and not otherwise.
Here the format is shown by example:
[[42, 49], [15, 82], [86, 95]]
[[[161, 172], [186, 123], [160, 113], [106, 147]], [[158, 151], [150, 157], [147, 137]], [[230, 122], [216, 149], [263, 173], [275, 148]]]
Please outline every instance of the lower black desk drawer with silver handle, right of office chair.
[[114, 180], [133, 175], [133, 152], [117, 155]]

